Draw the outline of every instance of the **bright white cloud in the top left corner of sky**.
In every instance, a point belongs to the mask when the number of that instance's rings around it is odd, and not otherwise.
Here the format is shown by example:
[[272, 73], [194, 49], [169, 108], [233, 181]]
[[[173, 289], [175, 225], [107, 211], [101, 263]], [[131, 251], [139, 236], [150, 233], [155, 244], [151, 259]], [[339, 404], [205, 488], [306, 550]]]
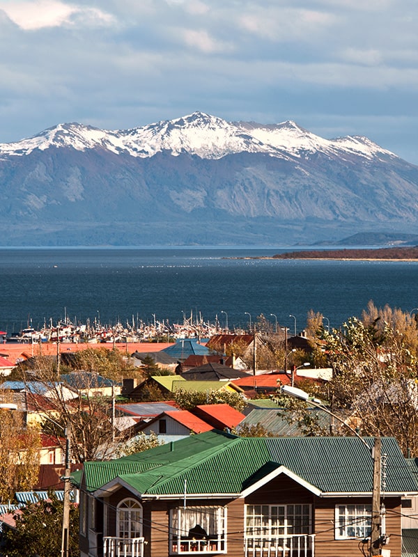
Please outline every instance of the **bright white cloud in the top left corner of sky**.
[[95, 25], [109, 24], [113, 19], [111, 15], [97, 8], [82, 8], [59, 0], [12, 3], [0, 1], [0, 10], [25, 31], [70, 25], [74, 17]]

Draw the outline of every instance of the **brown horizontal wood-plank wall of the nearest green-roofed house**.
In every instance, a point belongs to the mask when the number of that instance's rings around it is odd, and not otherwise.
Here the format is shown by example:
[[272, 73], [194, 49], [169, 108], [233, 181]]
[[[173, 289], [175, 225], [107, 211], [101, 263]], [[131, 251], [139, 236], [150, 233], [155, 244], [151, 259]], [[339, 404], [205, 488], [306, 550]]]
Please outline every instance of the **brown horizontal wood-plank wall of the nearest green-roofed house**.
[[[137, 499], [127, 489], [119, 489], [111, 494], [104, 506], [107, 508], [107, 525], [103, 535], [116, 535], [116, 507], [126, 497]], [[170, 509], [183, 505], [183, 501], [138, 501], [144, 509], [144, 557], [169, 556], [169, 524]], [[297, 484], [287, 476], [274, 478], [245, 499], [231, 501], [222, 500], [190, 500], [190, 506], [227, 505], [227, 554], [229, 557], [244, 555], [245, 504], [280, 505], [310, 504], [312, 505], [312, 532], [315, 533], [315, 557], [335, 557], [336, 555], [359, 554], [359, 540], [335, 540], [335, 505], [370, 504], [369, 498], [320, 498]], [[386, 533], [390, 542], [387, 549], [391, 557], [401, 557], [401, 498], [385, 499]], [[84, 552], [84, 545], [80, 547]], [[366, 549], [366, 547], [364, 548]]]

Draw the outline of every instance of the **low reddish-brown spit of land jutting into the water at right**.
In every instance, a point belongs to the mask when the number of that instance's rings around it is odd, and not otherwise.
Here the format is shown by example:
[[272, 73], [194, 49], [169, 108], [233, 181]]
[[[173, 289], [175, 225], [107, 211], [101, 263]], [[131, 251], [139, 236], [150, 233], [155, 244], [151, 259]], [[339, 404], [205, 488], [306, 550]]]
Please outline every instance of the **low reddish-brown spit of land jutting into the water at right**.
[[278, 253], [274, 259], [386, 259], [418, 260], [418, 246], [376, 249], [331, 249]]

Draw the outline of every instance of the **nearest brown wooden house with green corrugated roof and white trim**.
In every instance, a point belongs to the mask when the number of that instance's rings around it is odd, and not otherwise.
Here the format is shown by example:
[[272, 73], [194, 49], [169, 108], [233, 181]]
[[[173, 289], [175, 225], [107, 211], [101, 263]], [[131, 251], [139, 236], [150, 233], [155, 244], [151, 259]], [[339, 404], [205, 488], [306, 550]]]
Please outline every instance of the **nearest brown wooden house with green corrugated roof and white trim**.
[[[401, 499], [418, 485], [394, 439], [382, 439], [382, 454], [381, 533], [390, 535], [391, 557], [401, 557]], [[81, 557], [367, 551], [373, 459], [359, 437], [244, 438], [212, 430], [85, 462], [80, 485]]]

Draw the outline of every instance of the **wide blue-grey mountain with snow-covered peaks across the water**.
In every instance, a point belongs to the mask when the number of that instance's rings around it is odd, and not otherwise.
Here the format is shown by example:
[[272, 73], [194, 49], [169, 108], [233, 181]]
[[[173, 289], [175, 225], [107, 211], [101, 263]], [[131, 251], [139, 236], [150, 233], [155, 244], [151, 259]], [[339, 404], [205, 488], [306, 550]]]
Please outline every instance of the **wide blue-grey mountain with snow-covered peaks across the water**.
[[418, 167], [366, 137], [195, 112], [0, 144], [3, 245], [313, 244], [418, 233]]

